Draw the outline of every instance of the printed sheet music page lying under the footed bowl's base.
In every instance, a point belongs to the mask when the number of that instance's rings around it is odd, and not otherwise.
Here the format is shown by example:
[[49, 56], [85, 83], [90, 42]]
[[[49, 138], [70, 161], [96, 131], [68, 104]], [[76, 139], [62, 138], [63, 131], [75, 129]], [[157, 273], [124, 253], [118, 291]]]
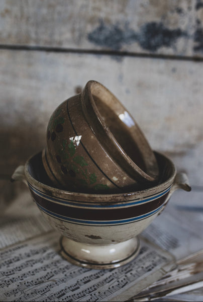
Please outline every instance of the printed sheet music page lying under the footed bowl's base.
[[169, 253], [144, 240], [135, 260], [109, 270], [72, 265], [60, 256], [59, 249], [55, 231], [2, 249], [0, 300], [121, 301], [132, 296], [127, 291], [120, 299], [127, 289], [133, 286], [137, 293], [174, 267]]

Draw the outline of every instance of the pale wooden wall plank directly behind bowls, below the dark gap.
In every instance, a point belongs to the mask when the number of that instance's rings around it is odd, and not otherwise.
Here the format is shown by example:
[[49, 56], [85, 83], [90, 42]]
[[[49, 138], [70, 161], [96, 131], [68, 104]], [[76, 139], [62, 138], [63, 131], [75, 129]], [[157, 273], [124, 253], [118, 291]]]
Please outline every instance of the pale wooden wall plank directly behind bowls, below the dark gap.
[[154, 149], [202, 185], [203, 63], [14, 50], [0, 57], [2, 174], [39, 152], [53, 110], [96, 80], [127, 107]]

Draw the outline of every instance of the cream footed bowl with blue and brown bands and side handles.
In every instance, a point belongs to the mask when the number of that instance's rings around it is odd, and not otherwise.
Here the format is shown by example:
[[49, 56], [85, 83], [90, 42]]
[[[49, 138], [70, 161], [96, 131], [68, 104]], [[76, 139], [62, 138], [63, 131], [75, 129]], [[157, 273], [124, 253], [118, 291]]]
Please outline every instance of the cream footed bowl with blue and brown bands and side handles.
[[61, 254], [69, 262], [96, 269], [119, 267], [136, 257], [139, 235], [163, 210], [177, 188], [189, 191], [185, 174], [155, 153], [157, 186], [122, 194], [87, 194], [54, 188], [43, 170], [41, 153], [16, 170], [48, 222], [61, 234]]

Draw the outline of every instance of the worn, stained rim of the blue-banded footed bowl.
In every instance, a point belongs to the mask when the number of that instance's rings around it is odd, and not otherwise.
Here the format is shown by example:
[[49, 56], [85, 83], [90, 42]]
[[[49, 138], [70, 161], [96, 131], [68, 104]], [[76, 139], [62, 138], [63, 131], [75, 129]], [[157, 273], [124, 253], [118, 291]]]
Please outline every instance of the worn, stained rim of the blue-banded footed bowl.
[[[41, 154], [41, 152], [39, 152], [38, 154]], [[31, 186], [34, 186], [35, 188], [39, 188], [39, 186], [42, 187], [42, 190], [46, 192], [46, 194], [48, 193], [51, 193], [51, 195], [53, 196], [57, 196], [57, 195], [61, 195], [61, 198], [64, 198], [66, 195], [70, 198], [70, 196], [74, 196], [74, 198], [79, 198], [79, 202], [84, 202], [82, 200], [80, 200], [81, 198], [88, 198], [88, 203], [92, 203], [92, 202], [95, 202], [95, 200], [98, 200], [97, 202], [98, 203], [125, 203], [126, 201], [129, 201], [129, 198], [131, 196], [136, 196], [137, 199], [142, 199], [142, 198], [145, 198], [145, 197], [148, 197], [148, 196], [151, 196], [154, 194], [158, 194], [160, 193], [161, 191], [165, 190], [166, 188], [169, 188], [170, 186], [172, 186], [173, 182], [174, 182], [174, 179], [175, 179], [175, 175], [176, 175], [176, 168], [175, 168], [175, 165], [173, 164], [173, 162], [165, 155], [159, 153], [159, 152], [156, 152], [154, 151], [154, 154], [155, 156], [157, 157], [160, 156], [162, 158], [164, 158], [165, 160], [167, 160], [169, 163], [170, 163], [170, 166], [172, 168], [172, 171], [171, 171], [171, 176], [165, 180], [164, 182], [156, 185], [156, 186], [153, 186], [153, 187], [150, 187], [150, 188], [147, 188], [147, 189], [144, 189], [144, 190], [140, 190], [140, 191], [134, 191], [134, 192], [123, 192], [123, 193], [110, 193], [110, 194], [107, 194], [107, 193], [104, 193], [104, 194], [96, 194], [96, 193], [82, 193], [82, 192], [71, 192], [71, 191], [66, 191], [66, 190], [63, 190], [63, 189], [59, 189], [59, 188], [55, 188], [55, 187], [51, 187], [49, 185], [46, 185], [42, 182], [40, 182], [39, 180], [35, 179], [33, 176], [31, 176], [30, 172], [29, 172], [29, 164], [30, 164], [30, 161], [35, 157], [37, 156], [37, 154], [31, 156], [26, 164], [25, 164], [25, 167], [24, 167], [24, 173], [25, 173], [25, 179], [26, 181], [31, 185]], [[32, 190], [32, 188], [31, 188]], [[54, 194], [52, 194], [52, 192]], [[151, 193], [151, 194], [150, 194]], [[60, 198], [60, 197], [58, 197]], [[122, 198], [123, 201], [118, 201], [119, 198]], [[109, 201], [108, 201], [109, 200]], [[73, 202], [75, 201], [76, 202], [76, 199], [75, 200], [72, 200]], [[84, 202], [86, 203], [86, 201]]]

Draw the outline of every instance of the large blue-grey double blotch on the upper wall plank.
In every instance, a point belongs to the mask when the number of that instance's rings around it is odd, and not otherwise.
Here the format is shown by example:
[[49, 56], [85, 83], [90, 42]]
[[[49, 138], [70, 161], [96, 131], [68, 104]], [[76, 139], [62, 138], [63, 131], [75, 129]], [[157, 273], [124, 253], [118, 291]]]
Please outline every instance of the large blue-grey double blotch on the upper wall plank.
[[89, 42], [99, 46], [120, 50], [123, 45], [138, 42], [143, 49], [157, 51], [160, 47], [172, 47], [180, 37], [186, 37], [181, 29], [169, 29], [162, 22], [144, 24], [139, 32], [134, 31], [126, 24], [123, 28], [119, 24], [106, 25], [103, 20], [87, 38]]

